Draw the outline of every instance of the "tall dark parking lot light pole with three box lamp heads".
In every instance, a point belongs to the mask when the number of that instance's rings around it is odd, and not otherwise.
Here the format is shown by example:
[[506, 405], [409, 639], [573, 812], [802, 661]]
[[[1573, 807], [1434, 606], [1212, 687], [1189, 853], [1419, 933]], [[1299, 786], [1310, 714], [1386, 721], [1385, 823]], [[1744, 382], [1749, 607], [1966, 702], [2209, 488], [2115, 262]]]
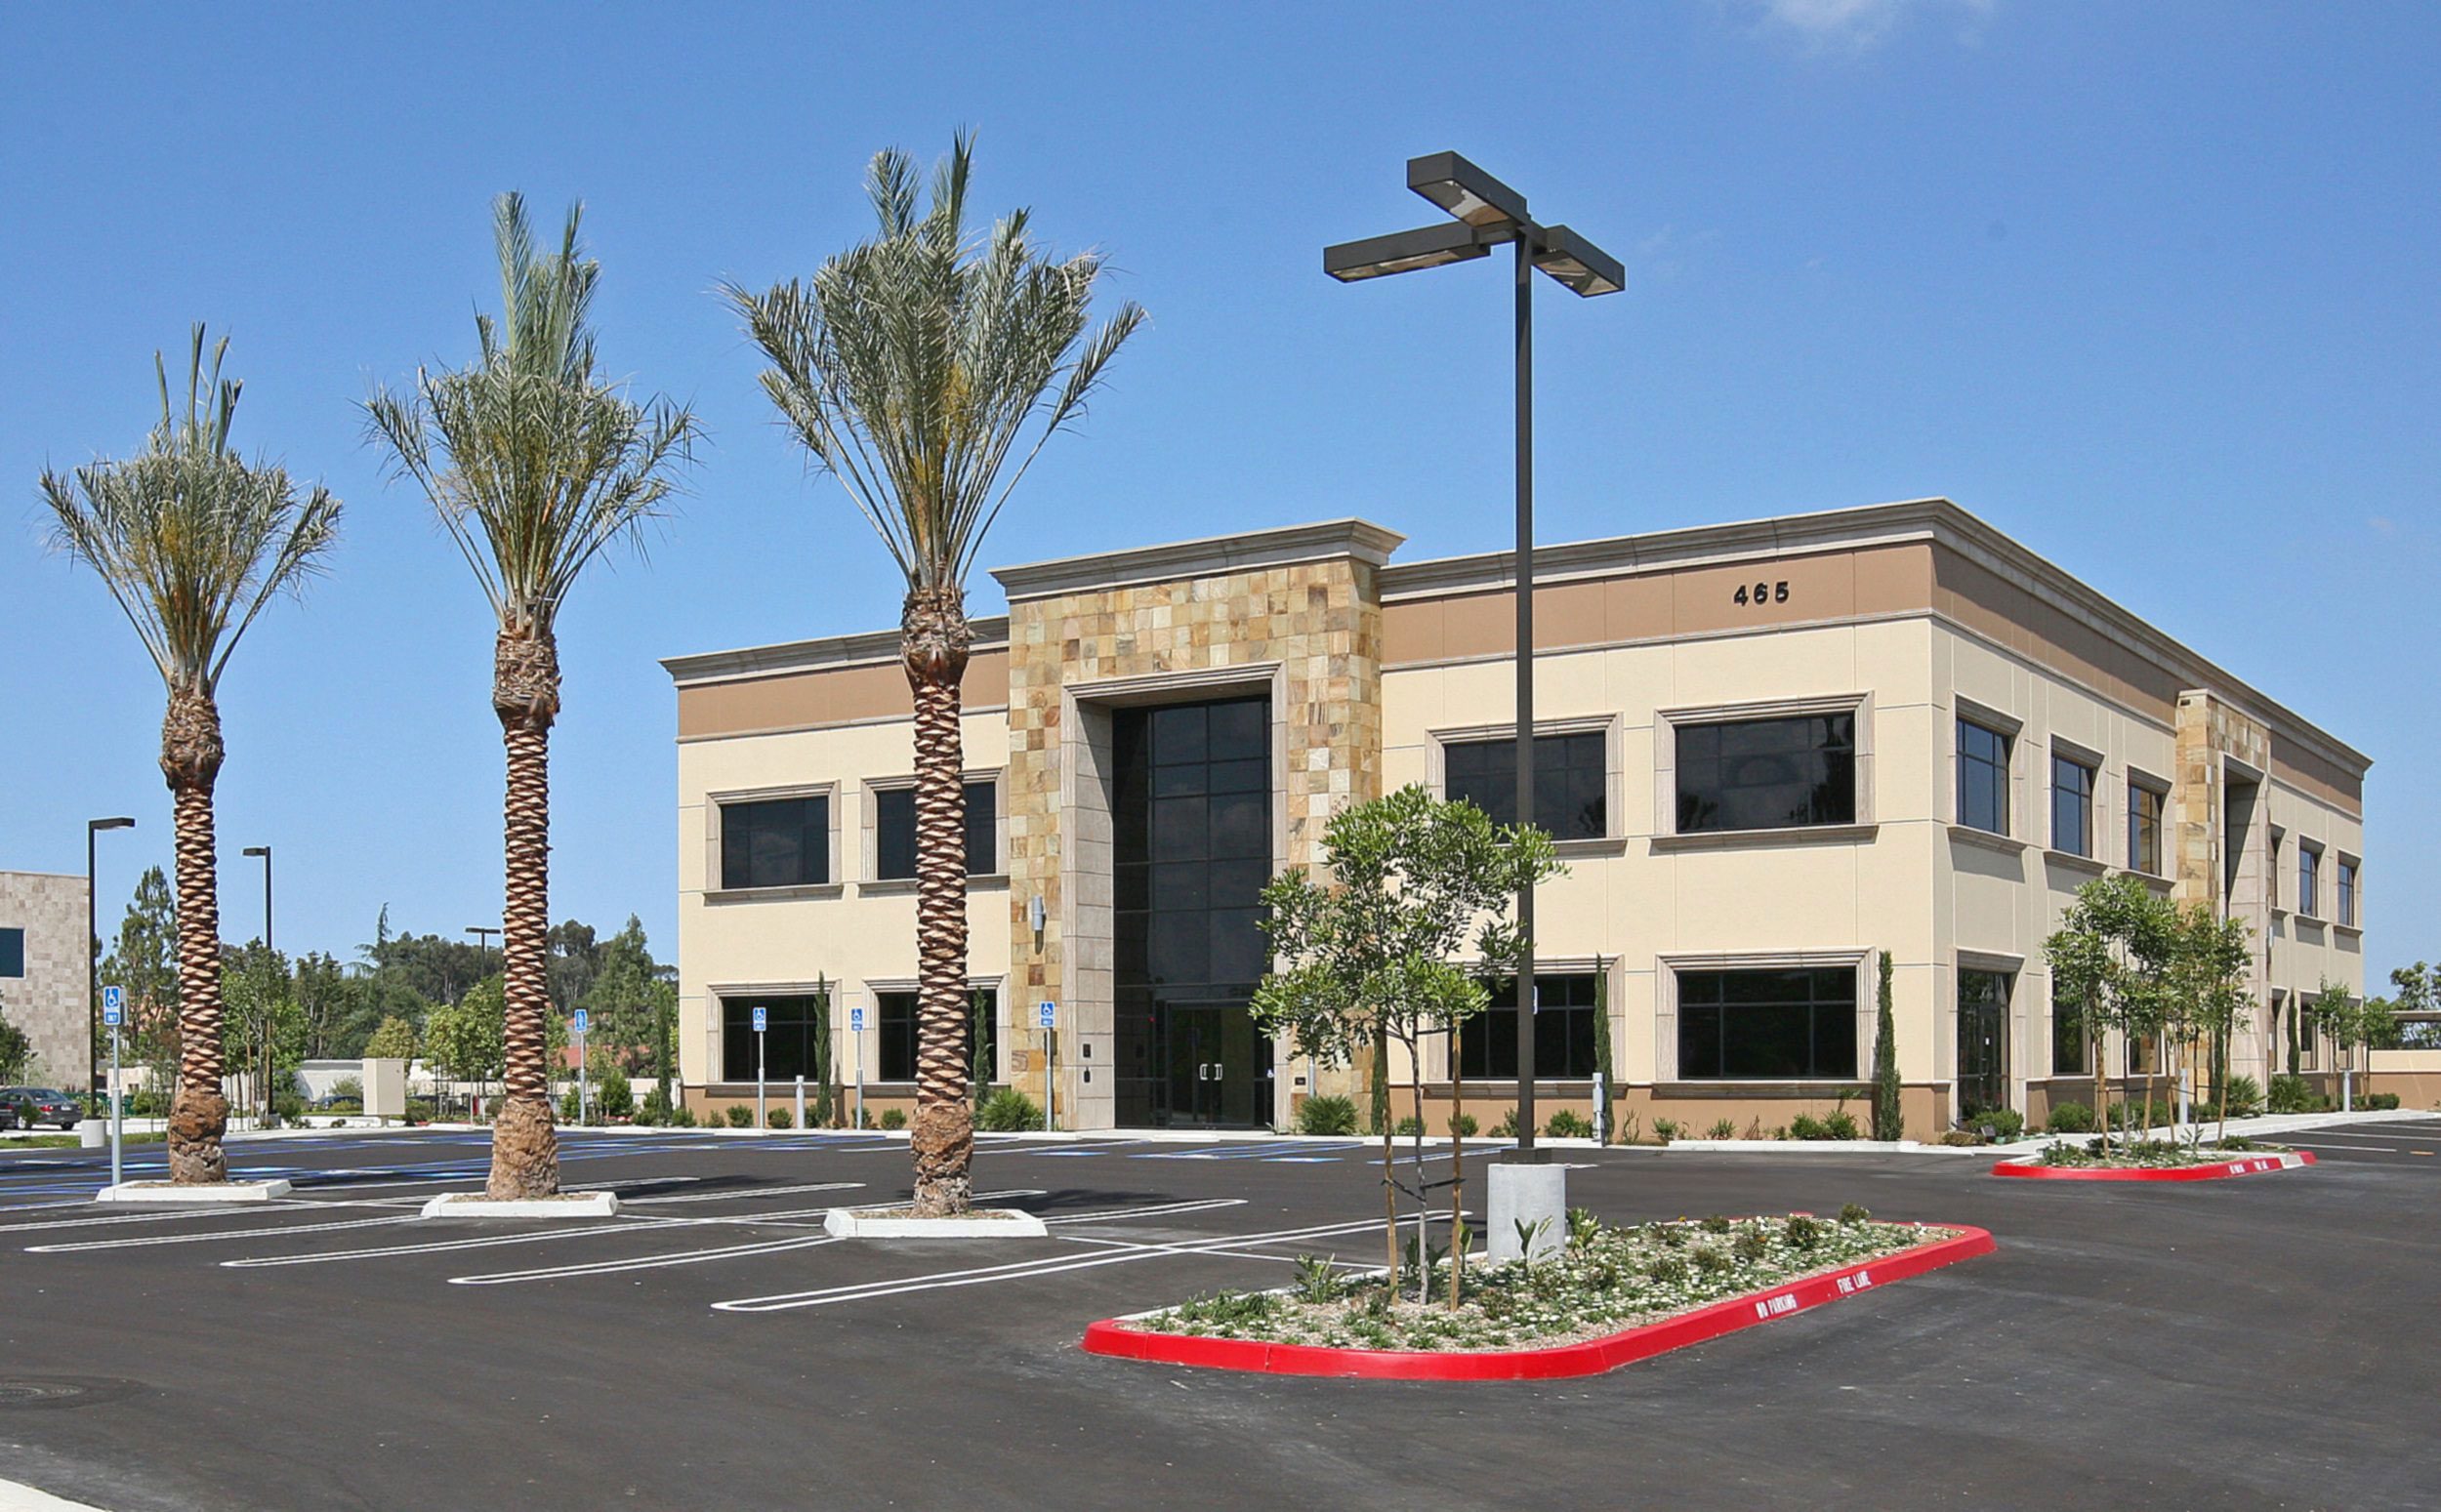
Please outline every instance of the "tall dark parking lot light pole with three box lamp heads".
[[[1455, 224], [1416, 227], [1323, 249], [1323, 273], [1340, 283], [1413, 273], [1491, 256], [1516, 246], [1516, 600], [1518, 600], [1518, 824], [1533, 822], [1533, 271], [1579, 298], [1626, 288], [1618, 259], [1567, 227], [1535, 224], [1526, 195], [1491, 178], [1455, 151], [1406, 161], [1406, 188], [1450, 212]], [[1518, 888], [1518, 1156], [1533, 1158], [1533, 883]], [[1450, 1068], [1457, 1075], [1457, 1066]]]

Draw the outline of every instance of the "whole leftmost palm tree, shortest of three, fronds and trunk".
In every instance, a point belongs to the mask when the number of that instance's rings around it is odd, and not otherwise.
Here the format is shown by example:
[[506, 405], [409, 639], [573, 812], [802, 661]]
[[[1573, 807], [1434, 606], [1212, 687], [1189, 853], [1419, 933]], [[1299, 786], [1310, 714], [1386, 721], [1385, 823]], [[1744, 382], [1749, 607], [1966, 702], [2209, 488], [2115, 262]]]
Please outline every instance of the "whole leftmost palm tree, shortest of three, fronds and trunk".
[[212, 783], [220, 778], [220, 673], [271, 602], [320, 571], [337, 539], [339, 500], [312, 485], [298, 502], [288, 468], [229, 446], [234, 378], [220, 376], [229, 339], [203, 371], [195, 327], [186, 412], [171, 407], [168, 366], [154, 354], [161, 424], [127, 461], [41, 473], [54, 544], [90, 566], [161, 671], [161, 776], [178, 839], [178, 1090], [168, 1112], [168, 1173], [178, 1185], [229, 1178], [220, 1136], [220, 888]]

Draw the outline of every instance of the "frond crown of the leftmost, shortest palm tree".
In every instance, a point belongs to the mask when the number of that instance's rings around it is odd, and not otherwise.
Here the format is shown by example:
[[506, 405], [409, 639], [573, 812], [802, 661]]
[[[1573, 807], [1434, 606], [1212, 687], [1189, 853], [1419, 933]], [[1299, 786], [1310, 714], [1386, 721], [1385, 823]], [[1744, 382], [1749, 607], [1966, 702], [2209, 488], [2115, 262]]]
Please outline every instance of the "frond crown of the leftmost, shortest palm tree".
[[188, 346], [186, 410], [154, 354], [161, 422], [124, 461], [41, 473], [56, 549], [90, 566], [134, 624], [166, 688], [210, 695], [254, 617], [276, 593], [322, 571], [339, 500], [288, 468], [247, 461], [229, 441], [242, 385], [222, 378], [227, 337], [205, 373], [205, 327]]

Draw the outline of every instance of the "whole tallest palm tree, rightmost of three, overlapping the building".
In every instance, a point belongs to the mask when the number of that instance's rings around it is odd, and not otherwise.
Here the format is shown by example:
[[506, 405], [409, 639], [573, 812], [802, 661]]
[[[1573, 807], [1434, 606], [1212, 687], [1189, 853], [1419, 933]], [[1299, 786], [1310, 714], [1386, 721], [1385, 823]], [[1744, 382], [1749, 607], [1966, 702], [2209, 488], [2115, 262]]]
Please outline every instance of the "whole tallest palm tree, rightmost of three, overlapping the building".
[[[918, 215], [915, 166], [874, 156], [867, 193], [881, 232], [810, 283], [727, 300], [771, 366], [764, 393], [815, 466], [840, 478], [906, 576], [901, 661], [915, 700], [915, 1212], [964, 1212], [974, 1117], [967, 1105], [967, 795], [959, 680], [967, 571], [1008, 493], [1052, 432], [1084, 415], [1133, 302], [1086, 332], [1098, 254], [1050, 261], [1028, 215], [967, 229], [974, 137], [959, 132]], [[1025, 444], [1033, 432], [1030, 444]], [[1006, 483], [1001, 468], [1023, 444]]]

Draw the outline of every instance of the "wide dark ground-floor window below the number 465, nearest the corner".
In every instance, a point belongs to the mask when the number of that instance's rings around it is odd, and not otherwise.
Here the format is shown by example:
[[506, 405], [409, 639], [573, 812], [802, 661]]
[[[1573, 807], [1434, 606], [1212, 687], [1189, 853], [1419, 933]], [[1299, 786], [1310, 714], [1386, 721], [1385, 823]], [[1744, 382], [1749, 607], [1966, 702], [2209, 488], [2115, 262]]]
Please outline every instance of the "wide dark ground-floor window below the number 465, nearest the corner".
[[1682, 971], [1679, 1075], [1855, 1075], [1855, 968]]

